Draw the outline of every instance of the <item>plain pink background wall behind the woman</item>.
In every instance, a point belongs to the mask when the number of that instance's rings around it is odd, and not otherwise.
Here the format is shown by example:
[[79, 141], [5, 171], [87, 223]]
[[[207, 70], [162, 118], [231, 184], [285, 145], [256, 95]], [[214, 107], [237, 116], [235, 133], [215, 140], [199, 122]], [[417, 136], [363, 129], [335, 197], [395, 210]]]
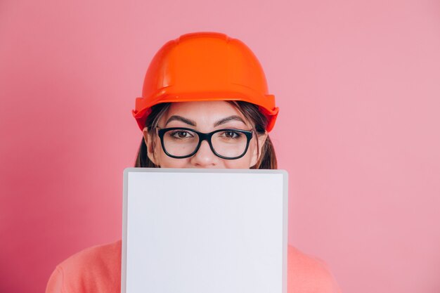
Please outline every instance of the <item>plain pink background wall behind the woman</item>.
[[42, 292], [120, 237], [134, 98], [155, 51], [195, 31], [266, 71], [290, 244], [343, 292], [440, 292], [439, 1], [112, 2], [0, 2], [0, 292]]

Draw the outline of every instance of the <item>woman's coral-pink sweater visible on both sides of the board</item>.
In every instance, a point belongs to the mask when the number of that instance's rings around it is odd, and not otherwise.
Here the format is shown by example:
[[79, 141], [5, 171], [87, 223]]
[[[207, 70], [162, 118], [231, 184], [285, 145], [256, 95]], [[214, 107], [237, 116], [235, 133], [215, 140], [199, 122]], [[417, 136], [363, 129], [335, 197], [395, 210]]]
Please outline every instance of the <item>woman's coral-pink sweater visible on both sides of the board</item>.
[[[60, 263], [46, 293], [120, 293], [121, 240], [84, 249]], [[323, 261], [287, 249], [287, 293], [340, 293]]]

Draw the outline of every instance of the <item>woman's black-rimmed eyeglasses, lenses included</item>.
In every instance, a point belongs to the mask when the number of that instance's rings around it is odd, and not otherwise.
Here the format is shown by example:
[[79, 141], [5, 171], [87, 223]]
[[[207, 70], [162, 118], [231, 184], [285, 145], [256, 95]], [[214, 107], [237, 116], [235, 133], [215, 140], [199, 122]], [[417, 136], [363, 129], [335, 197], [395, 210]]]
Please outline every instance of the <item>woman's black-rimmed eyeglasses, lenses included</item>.
[[204, 134], [194, 129], [172, 127], [158, 129], [162, 149], [169, 157], [183, 159], [198, 152], [202, 141], [222, 159], [239, 159], [244, 156], [252, 138], [252, 131], [242, 129], [218, 129]]

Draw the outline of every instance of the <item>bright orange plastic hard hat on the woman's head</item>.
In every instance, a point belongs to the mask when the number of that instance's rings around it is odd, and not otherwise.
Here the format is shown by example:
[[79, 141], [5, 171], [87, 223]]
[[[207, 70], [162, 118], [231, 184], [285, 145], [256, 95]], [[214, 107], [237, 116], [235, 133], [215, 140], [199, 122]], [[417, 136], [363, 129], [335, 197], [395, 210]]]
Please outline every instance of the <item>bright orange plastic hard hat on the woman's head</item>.
[[257, 57], [242, 41], [217, 32], [183, 34], [164, 44], [148, 67], [132, 112], [143, 129], [153, 105], [200, 100], [258, 105], [268, 119], [267, 131], [278, 115]]

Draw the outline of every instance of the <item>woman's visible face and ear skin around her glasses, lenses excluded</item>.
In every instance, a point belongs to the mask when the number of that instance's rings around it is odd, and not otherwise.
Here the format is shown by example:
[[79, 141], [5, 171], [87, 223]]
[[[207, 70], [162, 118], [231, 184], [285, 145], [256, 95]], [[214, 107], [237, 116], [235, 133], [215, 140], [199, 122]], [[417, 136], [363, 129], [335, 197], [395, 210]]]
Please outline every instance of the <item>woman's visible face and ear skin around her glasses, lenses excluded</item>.
[[[187, 127], [203, 133], [216, 129], [252, 130], [252, 125], [240, 111], [231, 103], [222, 100], [172, 103], [167, 113], [160, 119], [158, 126], [159, 128]], [[192, 157], [174, 159], [168, 157], [162, 150], [159, 136], [151, 137], [146, 127], [143, 129], [143, 138], [147, 145], [148, 157], [162, 168], [249, 169], [257, 164], [257, 155], [261, 154], [267, 133], [258, 136], [259, 152], [257, 152], [257, 137], [253, 134], [249, 149], [240, 159], [217, 157], [209, 148], [207, 141], [202, 141], [200, 149]]]

